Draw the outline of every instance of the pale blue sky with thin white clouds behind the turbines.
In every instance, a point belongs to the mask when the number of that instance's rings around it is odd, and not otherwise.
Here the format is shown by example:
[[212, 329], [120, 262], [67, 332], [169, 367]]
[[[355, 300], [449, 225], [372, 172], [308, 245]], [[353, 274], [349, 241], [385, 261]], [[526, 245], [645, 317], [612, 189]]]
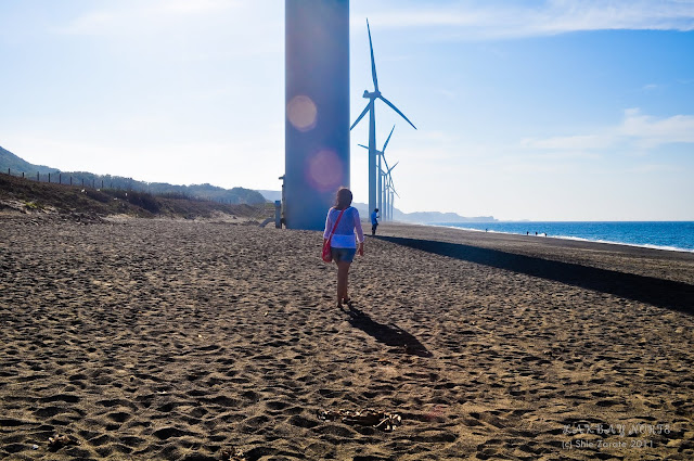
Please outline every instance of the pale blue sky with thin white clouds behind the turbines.
[[[694, 220], [694, 0], [352, 0], [351, 119], [406, 213]], [[281, 0], [0, 0], [0, 145], [151, 182], [280, 190]], [[368, 202], [368, 124], [351, 189]]]

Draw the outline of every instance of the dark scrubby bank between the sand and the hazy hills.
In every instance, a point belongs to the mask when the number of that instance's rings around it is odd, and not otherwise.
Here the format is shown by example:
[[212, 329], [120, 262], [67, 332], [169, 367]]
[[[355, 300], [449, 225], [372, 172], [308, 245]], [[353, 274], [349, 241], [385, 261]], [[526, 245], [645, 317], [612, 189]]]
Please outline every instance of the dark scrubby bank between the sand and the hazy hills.
[[[140, 191], [93, 189], [0, 174], [0, 213], [59, 214], [76, 218], [108, 215], [133, 217], [210, 218], [228, 215], [241, 221], [262, 221], [274, 215], [265, 202], [259, 205], [223, 204], [183, 195], [154, 195]], [[233, 219], [233, 218], [232, 218]]]

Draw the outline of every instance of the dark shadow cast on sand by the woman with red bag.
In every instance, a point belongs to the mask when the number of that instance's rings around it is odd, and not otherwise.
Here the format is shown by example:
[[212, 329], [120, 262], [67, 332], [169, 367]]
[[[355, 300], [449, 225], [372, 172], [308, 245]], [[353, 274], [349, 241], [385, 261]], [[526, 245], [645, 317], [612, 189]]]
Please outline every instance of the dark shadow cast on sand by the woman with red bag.
[[348, 305], [347, 313], [349, 324], [372, 336], [378, 343], [391, 346], [391, 353], [408, 354], [417, 357], [433, 357], [426, 347], [419, 340], [401, 328], [390, 324], [378, 323], [363, 311], [352, 305]]

